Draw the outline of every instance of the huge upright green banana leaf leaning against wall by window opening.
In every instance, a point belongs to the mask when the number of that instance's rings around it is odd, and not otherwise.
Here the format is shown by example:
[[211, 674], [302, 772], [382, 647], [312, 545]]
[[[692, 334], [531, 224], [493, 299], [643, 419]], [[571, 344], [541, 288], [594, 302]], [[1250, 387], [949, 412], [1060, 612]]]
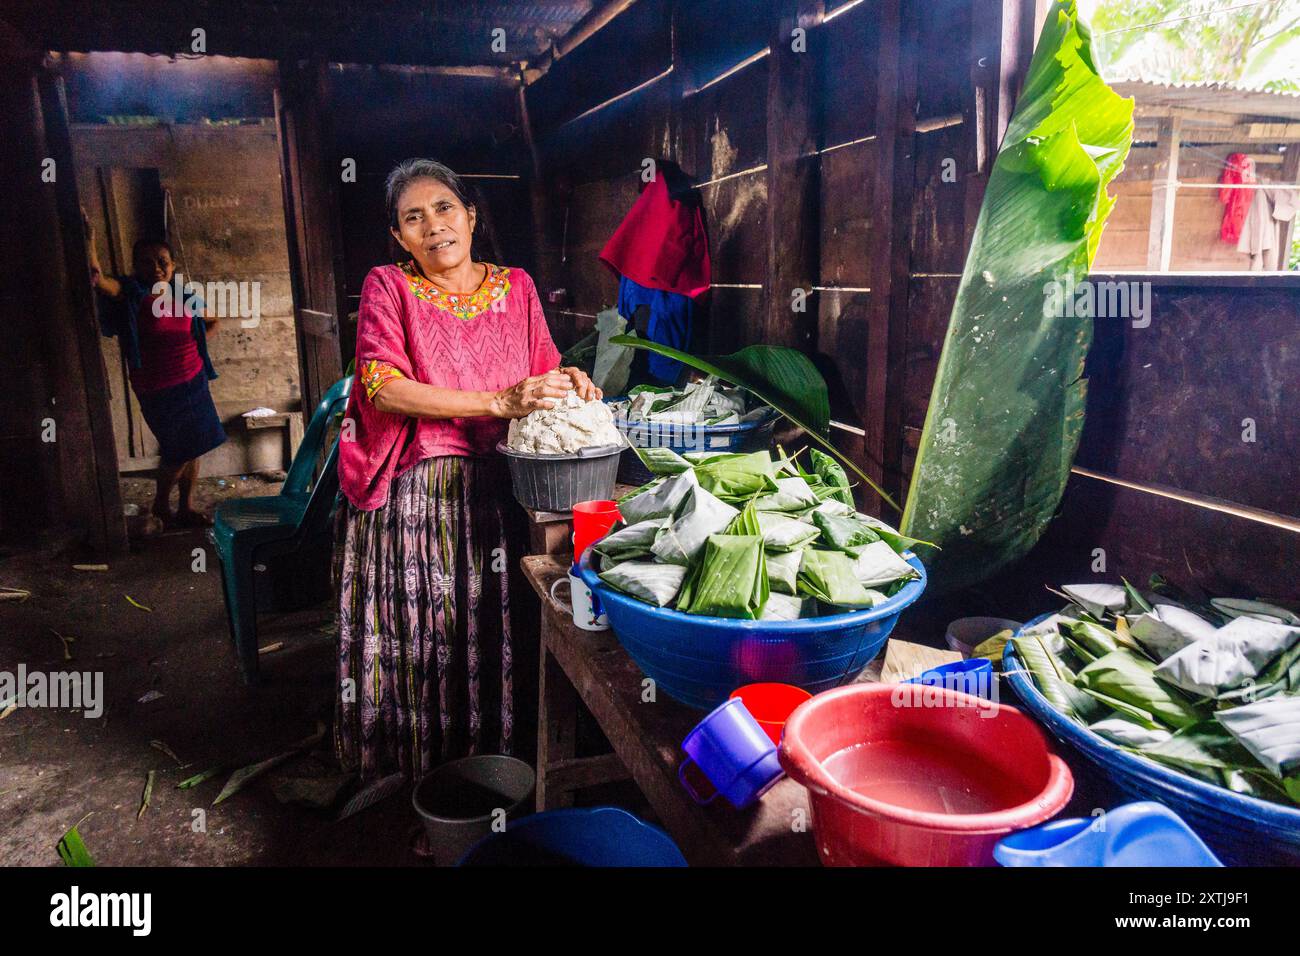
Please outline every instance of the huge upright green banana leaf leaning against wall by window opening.
[[926, 555], [936, 587], [1023, 557], [1061, 501], [1092, 319], [1046, 303], [1087, 276], [1132, 111], [1101, 79], [1074, 0], [1054, 3], [984, 193], [901, 524], [942, 548]]

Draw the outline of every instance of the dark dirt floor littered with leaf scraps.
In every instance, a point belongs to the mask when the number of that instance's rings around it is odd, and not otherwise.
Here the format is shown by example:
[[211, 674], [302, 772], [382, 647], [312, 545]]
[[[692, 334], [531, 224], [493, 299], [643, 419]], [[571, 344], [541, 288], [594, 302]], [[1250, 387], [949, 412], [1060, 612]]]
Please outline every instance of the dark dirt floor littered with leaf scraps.
[[[255, 477], [225, 481], [200, 483], [198, 503], [211, 512], [220, 498], [277, 488]], [[152, 481], [124, 485], [127, 502], [147, 509]], [[195, 549], [205, 553], [205, 571], [194, 570]], [[263, 615], [260, 645], [283, 648], [263, 656], [264, 680], [250, 688], [238, 675], [220, 568], [203, 532], [138, 541], [107, 571], [74, 571], [74, 561], [51, 550], [0, 553], [0, 585], [31, 592], [0, 604], [0, 671], [20, 662], [29, 672], [92, 671], [103, 675], [104, 697], [99, 718], [9, 710], [0, 701], [0, 864], [57, 865], [56, 844], [74, 825], [100, 865], [424, 862], [410, 851], [417, 825], [408, 790], [339, 823], [332, 812], [277, 799], [333, 788], [328, 739], [212, 805], [230, 770], [273, 757], [329, 721], [328, 604]], [[177, 790], [213, 767], [225, 771]], [[151, 770], [152, 796], [140, 813]]]

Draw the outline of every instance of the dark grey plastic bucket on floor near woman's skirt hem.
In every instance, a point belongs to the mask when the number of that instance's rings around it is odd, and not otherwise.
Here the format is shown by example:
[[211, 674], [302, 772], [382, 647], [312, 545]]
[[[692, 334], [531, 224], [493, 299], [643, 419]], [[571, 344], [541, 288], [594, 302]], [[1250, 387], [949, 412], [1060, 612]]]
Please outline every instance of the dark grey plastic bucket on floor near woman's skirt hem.
[[530, 810], [533, 769], [502, 754], [464, 757], [428, 774], [411, 795], [429, 838], [433, 861], [452, 866], [493, 825]]

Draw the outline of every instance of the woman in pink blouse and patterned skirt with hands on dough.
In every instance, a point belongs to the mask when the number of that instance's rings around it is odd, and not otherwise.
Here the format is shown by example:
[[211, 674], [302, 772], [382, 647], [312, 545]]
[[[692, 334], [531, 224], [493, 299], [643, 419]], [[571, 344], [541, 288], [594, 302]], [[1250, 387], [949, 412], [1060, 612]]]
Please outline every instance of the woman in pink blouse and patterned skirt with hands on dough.
[[335, 743], [363, 778], [419, 778], [515, 744], [508, 581], [521, 537], [494, 447], [508, 419], [601, 392], [559, 368], [533, 280], [471, 258], [474, 207], [455, 173], [407, 160], [387, 204], [411, 260], [361, 287], [339, 444]]

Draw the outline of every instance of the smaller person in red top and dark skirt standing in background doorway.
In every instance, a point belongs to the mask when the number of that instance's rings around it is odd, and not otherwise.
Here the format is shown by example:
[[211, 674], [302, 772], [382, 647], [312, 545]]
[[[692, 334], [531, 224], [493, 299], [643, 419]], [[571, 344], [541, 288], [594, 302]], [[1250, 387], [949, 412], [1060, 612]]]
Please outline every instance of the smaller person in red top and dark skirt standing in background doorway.
[[[100, 293], [105, 334], [117, 336], [131, 376], [131, 390], [144, 421], [159, 442], [157, 492], [153, 514], [168, 527], [203, 528], [212, 524], [194, 510], [199, 457], [226, 440], [208, 392], [217, 373], [208, 360], [207, 333], [216, 319], [181, 302], [159, 302], [153, 287], [170, 285], [176, 272], [172, 247], [161, 239], [140, 239], [131, 250], [130, 276], [105, 276], [95, 254], [87, 222], [91, 281]], [[172, 511], [172, 489], [179, 488], [179, 507]]]

